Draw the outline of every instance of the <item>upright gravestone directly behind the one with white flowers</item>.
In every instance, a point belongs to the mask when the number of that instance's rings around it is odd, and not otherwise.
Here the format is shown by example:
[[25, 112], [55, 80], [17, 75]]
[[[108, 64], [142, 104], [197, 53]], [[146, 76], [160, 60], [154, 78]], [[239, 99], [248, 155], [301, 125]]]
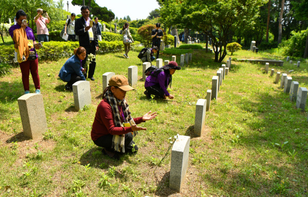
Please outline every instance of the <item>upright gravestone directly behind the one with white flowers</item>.
[[194, 133], [197, 136], [202, 135], [202, 130], [204, 128], [206, 112], [206, 99], [198, 99], [196, 104], [196, 116], [195, 116], [195, 130]]

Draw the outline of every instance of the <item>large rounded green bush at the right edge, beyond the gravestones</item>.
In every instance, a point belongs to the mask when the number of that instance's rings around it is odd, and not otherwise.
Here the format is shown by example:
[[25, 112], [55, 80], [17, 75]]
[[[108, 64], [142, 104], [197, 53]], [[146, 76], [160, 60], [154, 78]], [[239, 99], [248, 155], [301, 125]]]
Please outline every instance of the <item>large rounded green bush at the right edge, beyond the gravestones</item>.
[[292, 31], [290, 39], [283, 41], [279, 47], [285, 56], [303, 57], [305, 51], [305, 43], [307, 38], [307, 31]]

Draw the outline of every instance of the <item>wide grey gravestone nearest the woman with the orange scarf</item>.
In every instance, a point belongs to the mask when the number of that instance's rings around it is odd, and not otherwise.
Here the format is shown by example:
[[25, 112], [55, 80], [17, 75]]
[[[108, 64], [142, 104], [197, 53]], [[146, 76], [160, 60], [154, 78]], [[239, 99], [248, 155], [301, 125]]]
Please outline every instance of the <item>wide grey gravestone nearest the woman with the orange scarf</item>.
[[24, 135], [32, 139], [43, 137], [47, 120], [42, 94], [29, 93], [17, 99]]

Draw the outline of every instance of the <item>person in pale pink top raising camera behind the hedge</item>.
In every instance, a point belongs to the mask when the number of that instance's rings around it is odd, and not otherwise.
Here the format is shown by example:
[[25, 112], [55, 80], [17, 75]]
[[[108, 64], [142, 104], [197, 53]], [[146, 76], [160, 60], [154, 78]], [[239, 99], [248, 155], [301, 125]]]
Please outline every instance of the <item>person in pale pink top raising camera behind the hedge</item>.
[[[47, 28], [47, 23], [50, 23], [50, 17], [48, 13], [42, 8], [36, 10], [37, 15], [34, 17], [34, 22], [36, 24], [36, 34], [38, 42], [48, 42], [49, 32]], [[43, 16], [45, 15], [45, 17]]]

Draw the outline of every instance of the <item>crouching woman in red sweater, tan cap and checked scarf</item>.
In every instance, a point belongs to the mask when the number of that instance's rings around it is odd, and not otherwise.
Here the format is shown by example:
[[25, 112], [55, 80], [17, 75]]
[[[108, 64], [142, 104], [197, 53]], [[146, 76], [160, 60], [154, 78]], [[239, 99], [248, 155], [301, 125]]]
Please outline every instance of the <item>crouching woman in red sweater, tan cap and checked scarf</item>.
[[119, 159], [123, 153], [135, 153], [137, 145], [132, 140], [138, 131], [146, 128], [137, 124], [152, 120], [157, 113], [149, 111], [142, 117], [132, 118], [125, 95], [133, 88], [123, 75], [114, 75], [103, 93], [92, 124], [91, 139], [94, 144], [103, 147], [103, 154]]

